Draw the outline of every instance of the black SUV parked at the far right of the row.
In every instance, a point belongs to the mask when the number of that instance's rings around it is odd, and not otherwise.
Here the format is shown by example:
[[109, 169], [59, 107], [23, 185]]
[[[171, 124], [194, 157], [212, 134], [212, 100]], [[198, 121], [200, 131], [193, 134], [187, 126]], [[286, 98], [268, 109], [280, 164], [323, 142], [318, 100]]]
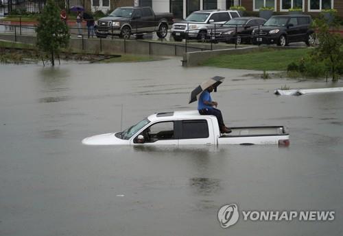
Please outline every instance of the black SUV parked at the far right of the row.
[[252, 31], [253, 44], [278, 44], [287, 46], [289, 42], [314, 44], [315, 34], [309, 28], [309, 15], [272, 16], [263, 26]]

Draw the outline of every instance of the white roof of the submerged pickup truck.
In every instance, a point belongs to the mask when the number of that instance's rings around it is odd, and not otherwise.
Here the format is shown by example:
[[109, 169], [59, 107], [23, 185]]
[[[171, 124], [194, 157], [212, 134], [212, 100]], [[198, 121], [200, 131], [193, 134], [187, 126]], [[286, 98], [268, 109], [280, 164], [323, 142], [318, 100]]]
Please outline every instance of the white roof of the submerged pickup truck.
[[147, 118], [151, 121], [154, 120], [178, 120], [180, 118], [205, 118], [199, 114], [198, 110], [193, 111], [176, 111], [176, 112], [158, 112], [148, 116]]

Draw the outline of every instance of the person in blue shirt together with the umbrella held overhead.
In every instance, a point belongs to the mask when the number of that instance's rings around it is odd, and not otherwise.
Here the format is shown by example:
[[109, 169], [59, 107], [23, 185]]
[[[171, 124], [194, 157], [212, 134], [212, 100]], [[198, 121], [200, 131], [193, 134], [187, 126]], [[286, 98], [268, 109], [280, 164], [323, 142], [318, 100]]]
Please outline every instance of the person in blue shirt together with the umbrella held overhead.
[[224, 77], [215, 76], [207, 81], [204, 81], [196, 89], [191, 92], [191, 98], [189, 103], [193, 103], [198, 100], [198, 111], [200, 115], [212, 115], [217, 117], [217, 121], [220, 127], [220, 133], [231, 133], [231, 130], [225, 126], [222, 112], [217, 109], [218, 103], [212, 101], [211, 92], [217, 92], [217, 86], [222, 83]]

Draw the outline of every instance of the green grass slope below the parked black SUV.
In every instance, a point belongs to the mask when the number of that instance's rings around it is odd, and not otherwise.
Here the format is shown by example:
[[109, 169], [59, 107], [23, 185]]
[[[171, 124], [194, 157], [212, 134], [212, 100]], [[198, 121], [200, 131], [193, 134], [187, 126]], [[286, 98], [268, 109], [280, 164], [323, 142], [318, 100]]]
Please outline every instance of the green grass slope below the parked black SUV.
[[246, 70], [286, 70], [287, 65], [304, 57], [312, 49], [266, 49], [242, 55], [219, 55], [206, 60], [202, 66]]

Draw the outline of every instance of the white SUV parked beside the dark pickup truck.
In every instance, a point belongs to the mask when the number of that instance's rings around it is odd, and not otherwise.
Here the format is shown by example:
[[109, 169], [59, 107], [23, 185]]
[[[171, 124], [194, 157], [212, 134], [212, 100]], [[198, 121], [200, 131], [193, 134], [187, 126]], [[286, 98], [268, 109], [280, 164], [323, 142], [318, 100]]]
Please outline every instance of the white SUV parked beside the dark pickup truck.
[[239, 17], [237, 11], [227, 10], [204, 10], [193, 12], [185, 21], [174, 23], [171, 27], [171, 36], [175, 41], [181, 41], [185, 38], [206, 40], [207, 29], [214, 24], [222, 25], [232, 18]]

